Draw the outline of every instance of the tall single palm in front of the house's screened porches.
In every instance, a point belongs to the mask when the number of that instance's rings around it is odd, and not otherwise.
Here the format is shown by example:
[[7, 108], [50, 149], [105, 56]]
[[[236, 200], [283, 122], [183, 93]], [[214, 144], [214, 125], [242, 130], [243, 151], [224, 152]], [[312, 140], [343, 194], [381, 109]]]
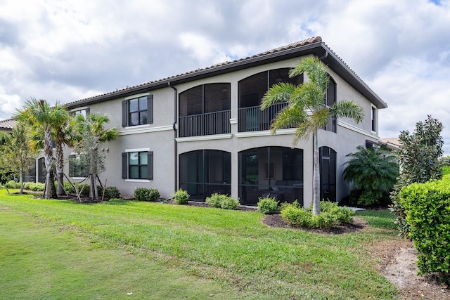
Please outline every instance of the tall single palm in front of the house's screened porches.
[[275, 103], [288, 103], [281, 112], [276, 115], [271, 124], [271, 133], [276, 134], [276, 129], [295, 126], [293, 146], [297, 145], [300, 138], [313, 137], [313, 212], [320, 214], [319, 189], [320, 189], [320, 165], [319, 142], [317, 134], [332, 118], [349, 117], [356, 123], [364, 119], [364, 112], [360, 105], [350, 100], [340, 100], [333, 106], [326, 105], [326, 90], [330, 77], [327, 67], [319, 58], [307, 57], [289, 72], [289, 77], [306, 74], [309, 81], [295, 85], [285, 82], [274, 84], [262, 98], [261, 109]]

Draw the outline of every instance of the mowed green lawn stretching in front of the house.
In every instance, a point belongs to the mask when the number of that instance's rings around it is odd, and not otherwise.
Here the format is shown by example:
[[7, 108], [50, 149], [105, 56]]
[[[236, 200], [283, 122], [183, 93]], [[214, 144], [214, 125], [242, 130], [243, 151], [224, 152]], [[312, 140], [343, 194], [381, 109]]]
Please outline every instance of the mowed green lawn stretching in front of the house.
[[0, 190], [0, 299], [395, 298], [368, 254], [377, 240], [395, 242], [395, 230], [321, 235], [268, 228], [262, 217]]

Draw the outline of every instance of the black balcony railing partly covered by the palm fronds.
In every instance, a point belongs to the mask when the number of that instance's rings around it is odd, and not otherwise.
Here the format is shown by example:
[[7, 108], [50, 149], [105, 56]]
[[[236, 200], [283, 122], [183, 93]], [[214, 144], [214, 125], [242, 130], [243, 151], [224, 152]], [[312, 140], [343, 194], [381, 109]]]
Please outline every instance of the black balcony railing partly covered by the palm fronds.
[[272, 120], [288, 103], [276, 103], [261, 110], [259, 106], [239, 108], [239, 132], [269, 130]]

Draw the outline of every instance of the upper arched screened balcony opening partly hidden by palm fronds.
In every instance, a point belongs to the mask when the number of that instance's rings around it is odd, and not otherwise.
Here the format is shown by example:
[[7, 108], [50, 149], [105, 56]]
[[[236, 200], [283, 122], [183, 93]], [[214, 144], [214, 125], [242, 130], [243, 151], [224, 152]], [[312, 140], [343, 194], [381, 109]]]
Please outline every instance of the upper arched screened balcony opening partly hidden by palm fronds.
[[261, 100], [271, 86], [279, 82], [302, 84], [303, 75], [289, 77], [289, 68], [264, 71], [239, 81], [239, 132], [269, 130], [271, 120], [285, 107], [277, 103], [259, 110]]

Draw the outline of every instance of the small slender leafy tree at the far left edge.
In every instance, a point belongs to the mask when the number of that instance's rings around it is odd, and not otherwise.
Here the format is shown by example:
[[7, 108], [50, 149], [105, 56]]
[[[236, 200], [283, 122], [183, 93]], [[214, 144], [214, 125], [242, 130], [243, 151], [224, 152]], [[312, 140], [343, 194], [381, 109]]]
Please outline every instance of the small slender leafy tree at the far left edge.
[[4, 136], [1, 147], [1, 169], [19, 178], [20, 194], [23, 194], [23, 175], [33, 166], [37, 156], [37, 151], [30, 147], [29, 131], [23, 122], [18, 122], [13, 133]]

